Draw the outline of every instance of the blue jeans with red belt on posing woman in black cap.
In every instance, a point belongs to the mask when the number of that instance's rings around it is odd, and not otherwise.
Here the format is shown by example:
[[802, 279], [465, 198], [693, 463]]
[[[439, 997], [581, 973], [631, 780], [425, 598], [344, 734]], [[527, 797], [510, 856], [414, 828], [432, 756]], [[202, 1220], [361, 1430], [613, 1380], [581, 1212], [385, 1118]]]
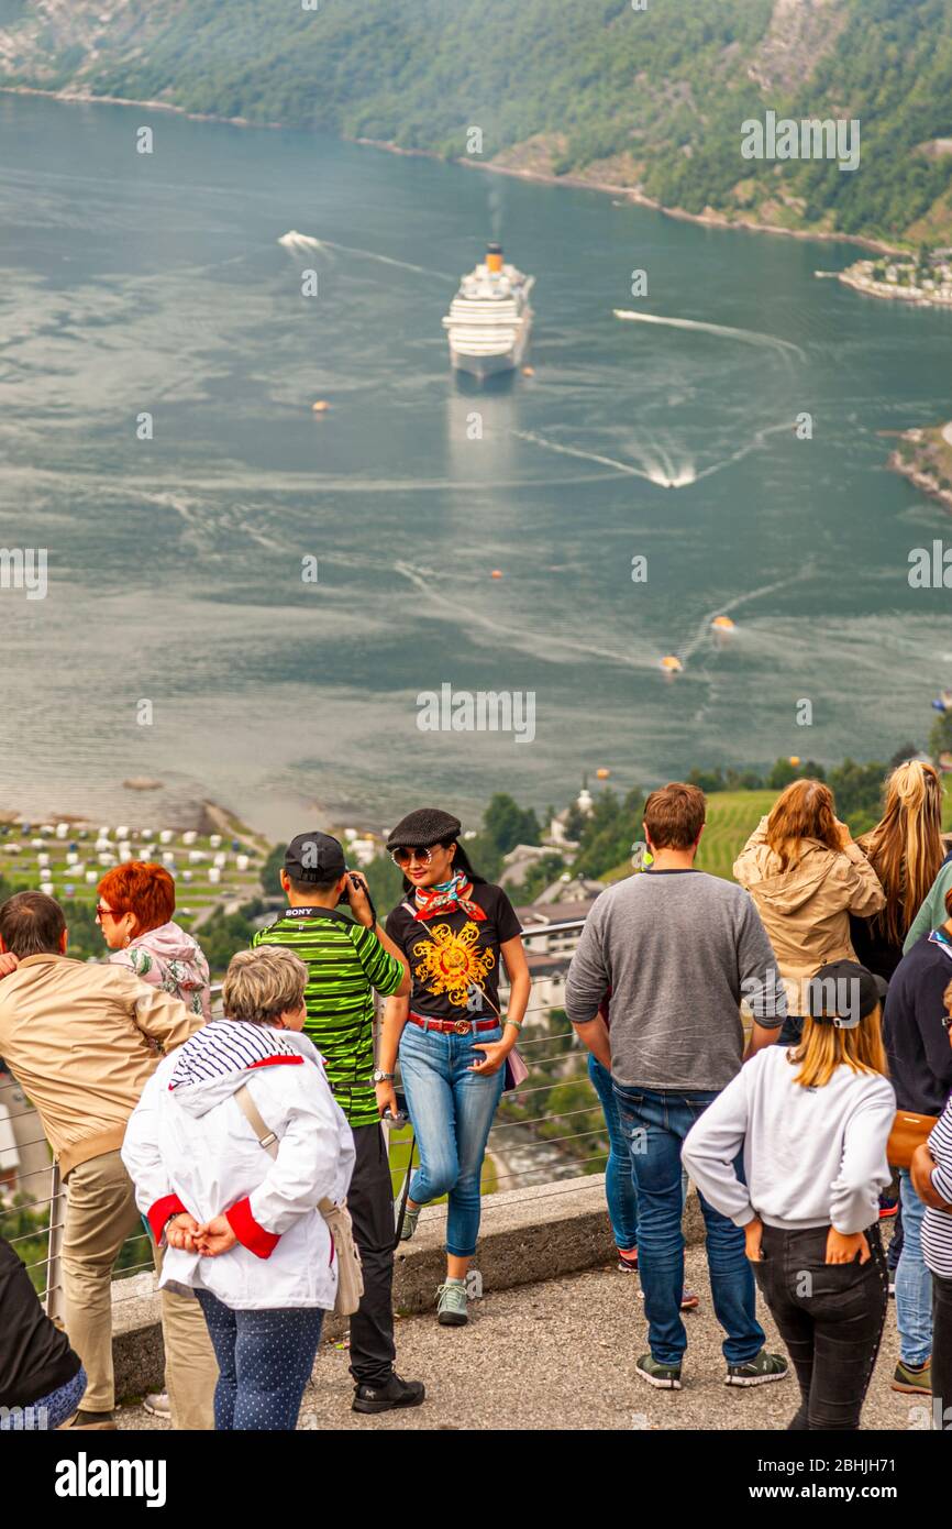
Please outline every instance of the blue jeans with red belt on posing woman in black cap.
[[469, 1035], [423, 1031], [413, 1020], [400, 1037], [400, 1076], [417, 1135], [420, 1167], [410, 1182], [410, 1199], [426, 1205], [449, 1196], [446, 1252], [471, 1258], [480, 1231], [480, 1174], [489, 1128], [500, 1102], [506, 1069], [481, 1078], [472, 1072], [484, 1053], [475, 1043], [498, 1041], [500, 1024]]

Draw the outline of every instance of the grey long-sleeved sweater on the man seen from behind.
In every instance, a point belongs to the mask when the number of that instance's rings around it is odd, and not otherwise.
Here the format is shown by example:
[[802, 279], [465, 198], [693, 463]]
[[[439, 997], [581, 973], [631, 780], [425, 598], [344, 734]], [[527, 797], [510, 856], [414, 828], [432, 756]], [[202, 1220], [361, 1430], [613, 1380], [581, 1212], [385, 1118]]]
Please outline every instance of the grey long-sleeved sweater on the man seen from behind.
[[787, 1017], [753, 899], [706, 872], [643, 872], [597, 899], [565, 979], [584, 1024], [611, 988], [611, 1075], [627, 1089], [726, 1087], [741, 1064], [741, 998], [766, 1026]]

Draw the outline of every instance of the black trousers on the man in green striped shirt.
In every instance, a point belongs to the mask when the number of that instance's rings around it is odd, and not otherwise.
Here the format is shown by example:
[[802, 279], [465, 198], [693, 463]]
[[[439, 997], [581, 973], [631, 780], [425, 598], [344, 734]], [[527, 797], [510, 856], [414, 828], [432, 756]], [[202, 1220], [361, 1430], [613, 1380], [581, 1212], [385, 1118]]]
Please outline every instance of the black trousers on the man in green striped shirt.
[[350, 1318], [350, 1373], [358, 1385], [385, 1385], [393, 1373], [393, 1190], [380, 1125], [355, 1125], [356, 1162], [347, 1191], [364, 1266], [364, 1298]]

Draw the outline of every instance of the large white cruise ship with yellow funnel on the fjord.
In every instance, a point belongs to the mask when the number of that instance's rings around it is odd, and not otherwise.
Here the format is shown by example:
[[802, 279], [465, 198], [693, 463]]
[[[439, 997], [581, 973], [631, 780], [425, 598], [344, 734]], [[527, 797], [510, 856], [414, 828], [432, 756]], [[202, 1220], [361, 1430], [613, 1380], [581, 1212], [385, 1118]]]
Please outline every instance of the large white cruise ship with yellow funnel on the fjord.
[[486, 258], [463, 277], [443, 320], [457, 370], [484, 378], [521, 365], [532, 330], [533, 281], [503, 265], [501, 245], [486, 246]]

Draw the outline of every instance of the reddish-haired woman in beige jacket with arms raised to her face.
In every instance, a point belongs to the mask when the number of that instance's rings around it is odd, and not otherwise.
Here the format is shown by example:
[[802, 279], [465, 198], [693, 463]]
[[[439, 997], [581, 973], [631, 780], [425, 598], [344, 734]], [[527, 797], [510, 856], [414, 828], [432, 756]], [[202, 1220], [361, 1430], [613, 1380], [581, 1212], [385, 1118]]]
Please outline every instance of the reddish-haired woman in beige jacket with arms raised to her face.
[[795, 780], [761, 818], [733, 862], [756, 904], [787, 989], [781, 1043], [799, 1038], [807, 983], [821, 966], [856, 960], [850, 914], [868, 917], [886, 894], [869, 861], [836, 816], [819, 780]]

